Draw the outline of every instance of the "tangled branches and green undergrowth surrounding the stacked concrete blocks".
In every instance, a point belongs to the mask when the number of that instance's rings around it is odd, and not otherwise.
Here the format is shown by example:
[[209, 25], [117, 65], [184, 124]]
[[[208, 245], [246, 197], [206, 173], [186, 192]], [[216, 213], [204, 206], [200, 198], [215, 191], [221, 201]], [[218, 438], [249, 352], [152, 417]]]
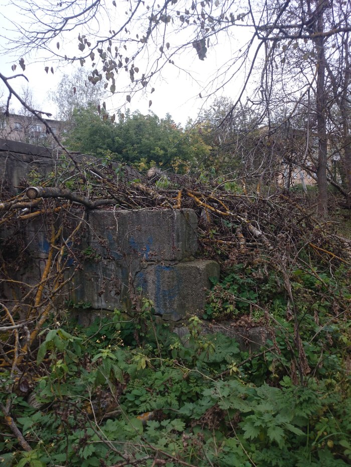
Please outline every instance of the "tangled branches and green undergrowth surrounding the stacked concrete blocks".
[[[13, 294], [1, 305], [3, 464], [349, 464], [347, 239], [298, 194], [222, 191], [181, 175], [157, 187], [109, 160], [77, 167], [63, 160], [57, 173], [37, 174], [39, 197], [30, 201], [3, 196], [11, 234], [2, 235], [2, 284]], [[115, 310], [87, 328], [72, 322], [67, 307], [89, 304], [64, 305], [63, 286], [72, 263], [99, 261], [79, 242], [84, 210], [103, 205], [195, 209], [201, 253], [222, 265], [206, 325], [189, 317], [180, 337], [132, 287], [131, 315]], [[21, 225], [43, 213], [41, 280], [19, 284], [30, 247], [21, 246]], [[215, 322], [223, 332], [208, 334]], [[270, 337], [240, 348], [235, 332], [255, 327]]]

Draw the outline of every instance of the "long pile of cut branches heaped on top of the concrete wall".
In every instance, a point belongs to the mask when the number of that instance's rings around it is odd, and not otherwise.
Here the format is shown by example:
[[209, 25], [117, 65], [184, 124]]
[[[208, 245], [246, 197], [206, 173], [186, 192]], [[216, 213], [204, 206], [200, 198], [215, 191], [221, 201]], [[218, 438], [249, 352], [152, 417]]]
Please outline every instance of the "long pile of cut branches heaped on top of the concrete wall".
[[216, 245], [223, 258], [257, 254], [257, 250], [274, 256], [286, 253], [287, 246], [296, 257], [298, 250], [307, 246], [317, 261], [349, 264], [349, 240], [317, 219], [315, 206], [294, 193], [263, 196], [223, 191], [223, 185], [204, 184], [188, 175], [164, 174], [161, 179], [159, 183], [159, 175], [143, 177], [112, 163], [107, 167], [84, 163], [3, 200], [0, 226], [72, 206], [86, 210], [112, 206], [127, 210], [193, 208], [203, 244], [212, 252]]

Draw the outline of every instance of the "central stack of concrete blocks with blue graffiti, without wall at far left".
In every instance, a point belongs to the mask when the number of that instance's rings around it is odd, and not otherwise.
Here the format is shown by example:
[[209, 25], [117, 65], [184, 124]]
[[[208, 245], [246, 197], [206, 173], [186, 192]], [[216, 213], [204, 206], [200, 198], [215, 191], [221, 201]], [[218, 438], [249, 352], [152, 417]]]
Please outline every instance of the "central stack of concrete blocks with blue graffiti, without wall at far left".
[[81, 249], [88, 253], [69, 296], [93, 310], [128, 309], [130, 290], [142, 292], [157, 314], [178, 320], [202, 309], [215, 261], [194, 259], [197, 216], [191, 209], [93, 210]]

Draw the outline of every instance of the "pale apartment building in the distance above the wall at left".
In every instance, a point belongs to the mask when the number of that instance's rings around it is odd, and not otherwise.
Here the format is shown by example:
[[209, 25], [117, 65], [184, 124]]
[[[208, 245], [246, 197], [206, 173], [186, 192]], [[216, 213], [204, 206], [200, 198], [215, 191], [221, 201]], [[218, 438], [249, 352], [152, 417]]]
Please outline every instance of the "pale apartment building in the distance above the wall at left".
[[[61, 138], [65, 133], [65, 123], [60, 120], [45, 119], [55, 136]], [[8, 117], [0, 115], [0, 138], [10, 141], [20, 141], [47, 148], [55, 148], [57, 143], [47, 132], [43, 122], [34, 115], [10, 114]]]

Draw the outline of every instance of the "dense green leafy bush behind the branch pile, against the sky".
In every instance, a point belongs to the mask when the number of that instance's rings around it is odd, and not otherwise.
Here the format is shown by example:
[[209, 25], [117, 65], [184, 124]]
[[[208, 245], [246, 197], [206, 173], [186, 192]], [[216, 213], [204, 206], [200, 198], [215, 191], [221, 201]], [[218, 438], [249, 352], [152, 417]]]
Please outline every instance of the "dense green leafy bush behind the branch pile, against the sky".
[[98, 157], [108, 153], [139, 170], [157, 165], [173, 167], [177, 172], [188, 170], [189, 161], [195, 156], [205, 157], [210, 150], [197, 130], [184, 130], [170, 115], [160, 119], [152, 112], [127, 112], [119, 114], [118, 122], [112, 122], [92, 106], [74, 110], [66, 144], [71, 150]]

